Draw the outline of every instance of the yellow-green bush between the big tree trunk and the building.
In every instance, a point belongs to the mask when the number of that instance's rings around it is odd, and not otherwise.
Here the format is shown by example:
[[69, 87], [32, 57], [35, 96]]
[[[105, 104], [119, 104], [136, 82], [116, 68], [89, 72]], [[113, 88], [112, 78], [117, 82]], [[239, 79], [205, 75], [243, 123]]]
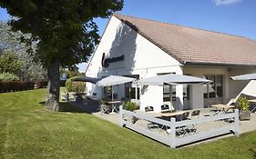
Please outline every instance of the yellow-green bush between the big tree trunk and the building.
[[77, 77], [78, 76], [74, 76], [72, 78], [67, 79], [66, 87], [68, 92], [85, 92], [86, 90], [85, 82], [72, 82], [72, 79]]

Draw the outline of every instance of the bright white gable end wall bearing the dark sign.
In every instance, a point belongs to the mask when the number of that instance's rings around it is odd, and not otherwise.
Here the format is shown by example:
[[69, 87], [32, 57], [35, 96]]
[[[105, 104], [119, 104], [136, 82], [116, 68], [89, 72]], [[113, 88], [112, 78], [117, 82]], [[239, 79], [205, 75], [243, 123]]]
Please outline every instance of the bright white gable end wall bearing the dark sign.
[[[101, 66], [102, 54], [106, 53], [108, 57], [117, 57], [125, 55], [125, 60], [109, 64], [108, 68]], [[123, 24], [112, 16], [108, 27], [102, 36], [100, 44], [88, 65], [87, 76], [101, 77], [108, 75], [139, 75], [139, 78], [145, 78], [162, 73], [176, 73], [182, 75], [182, 69], [177, 60], [153, 45], [143, 36], [138, 35], [136, 31]], [[101, 96], [101, 88], [92, 88], [87, 84], [87, 90], [97, 92], [97, 97]], [[92, 90], [94, 89], [94, 90]], [[148, 86], [140, 88], [140, 108], [144, 110], [145, 106], [154, 106], [155, 111], [160, 111], [160, 105], [163, 104], [162, 86]], [[183, 99], [182, 85], [177, 87], [179, 98]], [[124, 95], [124, 84], [116, 88], [118, 97]], [[182, 104], [182, 103], [181, 103]], [[181, 107], [181, 106], [179, 106]]]

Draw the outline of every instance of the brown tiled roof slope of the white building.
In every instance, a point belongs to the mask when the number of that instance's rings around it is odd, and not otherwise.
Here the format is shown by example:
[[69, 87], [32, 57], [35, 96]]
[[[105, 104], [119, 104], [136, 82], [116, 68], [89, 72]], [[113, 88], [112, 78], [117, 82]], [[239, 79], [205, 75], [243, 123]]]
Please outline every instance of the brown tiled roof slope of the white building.
[[128, 15], [114, 14], [138, 34], [191, 65], [256, 65], [256, 41]]

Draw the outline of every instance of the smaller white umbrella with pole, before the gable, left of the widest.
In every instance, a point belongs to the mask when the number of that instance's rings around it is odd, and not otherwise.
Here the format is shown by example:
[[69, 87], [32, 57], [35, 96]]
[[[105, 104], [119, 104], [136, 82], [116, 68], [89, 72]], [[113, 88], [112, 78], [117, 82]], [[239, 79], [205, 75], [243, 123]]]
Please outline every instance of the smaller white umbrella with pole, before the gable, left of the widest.
[[136, 80], [136, 78], [126, 77], [126, 76], [118, 76], [118, 75], [110, 75], [110, 76], [105, 77], [102, 80], [98, 81], [96, 84], [98, 86], [103, 86], [103, 87], [112, 85], [112, 101], [113, 101], [113, 94], [114, 94], [113, 85], [134, 82], [135, 80]]

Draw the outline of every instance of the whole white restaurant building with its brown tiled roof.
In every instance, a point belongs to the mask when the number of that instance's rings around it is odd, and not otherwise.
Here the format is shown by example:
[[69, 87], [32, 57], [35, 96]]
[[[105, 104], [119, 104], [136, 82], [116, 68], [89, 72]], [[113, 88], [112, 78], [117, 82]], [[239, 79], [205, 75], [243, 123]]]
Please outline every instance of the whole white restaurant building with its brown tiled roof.
[[[256, 41], [237, 35], [170, 25], [128, 15], [114, 14], [87, 67], [87, 76], [133, 76], [139, 79], [164, 74], [206, 77], [214, 84], [177, 85], [171, 103], [176, 109], [196, 109], [227, 103], [248, 82], [230, 76], [256, 72]], [[114, 87], [118, 98], [134, 97], [128, 84]], [[104, 89], [87, 84], [87, 90], [104, 95]], [[140, 86], [141, 109], [152, 105], [160, 111], [169, 102], [169, 85]]]

